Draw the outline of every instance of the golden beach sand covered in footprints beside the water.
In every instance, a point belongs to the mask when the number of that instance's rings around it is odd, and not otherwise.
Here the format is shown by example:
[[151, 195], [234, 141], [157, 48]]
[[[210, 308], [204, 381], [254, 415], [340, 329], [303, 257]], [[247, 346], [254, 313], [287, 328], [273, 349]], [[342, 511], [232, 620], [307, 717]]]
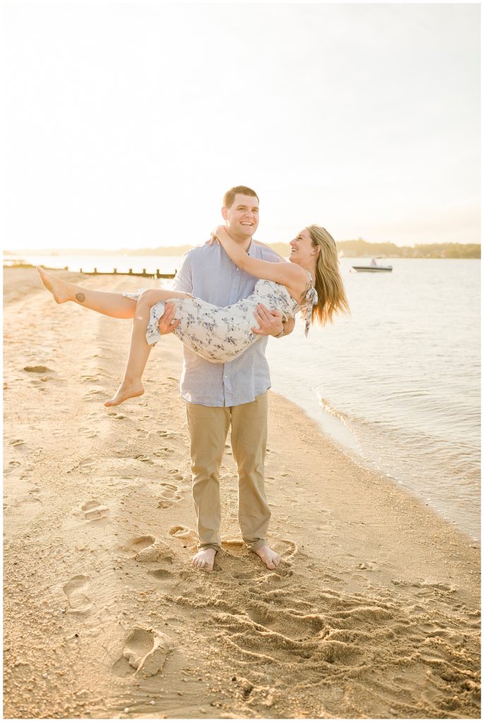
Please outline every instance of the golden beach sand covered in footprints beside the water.
[[269, 392], [282, 564], [241, 544], [229, 437], [223, 551], [194, 570], [180, 342], [107, 410], [131, 323], [56, 305], [33, 269], [4, 281], [4, 716], [480, 716], [476, 544]]

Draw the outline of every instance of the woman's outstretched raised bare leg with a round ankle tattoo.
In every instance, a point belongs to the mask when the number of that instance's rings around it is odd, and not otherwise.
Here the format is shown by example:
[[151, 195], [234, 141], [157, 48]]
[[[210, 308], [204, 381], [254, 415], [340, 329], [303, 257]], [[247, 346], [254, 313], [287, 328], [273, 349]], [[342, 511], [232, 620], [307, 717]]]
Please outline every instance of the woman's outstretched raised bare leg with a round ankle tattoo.
[[133, 318], [136, 309], [136, 301], [127, 298], [122, 293], [110, 293], [105, 291], [91, 291], [82, 288], [75, 283], [62, 281], [47, 273], [41, 266], [36, 266], [37, 272], [43, 285], [54, 297], [56, 303], [73, 301], [79, 306], [90, 308], [104, 316], [113, 318]]

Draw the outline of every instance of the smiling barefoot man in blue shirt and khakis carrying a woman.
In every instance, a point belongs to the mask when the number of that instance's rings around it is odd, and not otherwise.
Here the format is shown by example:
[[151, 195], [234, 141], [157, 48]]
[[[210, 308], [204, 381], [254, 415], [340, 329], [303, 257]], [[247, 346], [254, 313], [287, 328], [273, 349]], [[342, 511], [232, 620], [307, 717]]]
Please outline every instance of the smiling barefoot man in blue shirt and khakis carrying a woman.
[[[270, 248], [252, 240], [259, 225], [259, 199], [246, 186], [230, 188], [222, 207], [230, 236], [249, 253], [266, 261], [280, 261]], [[217, 283], [213, 282], [214, 277]], [[209, 303], [227, 306], [254, 291], [256, 278], [230, 261], [222, 245], [203, 245], [189, 251], [176, 274], [174, 288]], [[176, 327], [174, 307], [160, 319], [161, 333]], [[238, 523], [243, 541], [269, 569], [280, 556], [267, 544], [271, 516], [264, 492], [264, 458], [267, 445], [267, 389], [269, 366], [264, 352], [267, 336], [280, 337], [293, 330], [294, 321], [282, 322], [278, 311], [259, 305], [252, 331], [261, 338], [246, 352], [225, 364], [210, 363], [183, 345], [181, 396], [186, 401], [190, 434], [191, 472], [199, 551], [195, 567], [212, 570], [220, 546], [219, 469], [230, 440], [238, 470]]]

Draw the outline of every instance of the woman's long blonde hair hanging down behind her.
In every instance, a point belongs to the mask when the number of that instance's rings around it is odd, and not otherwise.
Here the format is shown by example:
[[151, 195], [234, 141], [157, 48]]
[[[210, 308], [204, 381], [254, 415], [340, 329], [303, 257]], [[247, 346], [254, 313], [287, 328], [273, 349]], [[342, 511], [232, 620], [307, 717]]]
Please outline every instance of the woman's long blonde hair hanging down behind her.
[[319, 248], [316, 261], [314, 285], [318, 292], [318, 303], [313, 306], [311, 322], [319, 321], [321, 326], [332, 323], [337, 313], [350, 313], [345, 286], [340, 274], [336, 243], [326, 228], [307, 226], [314, 248]]

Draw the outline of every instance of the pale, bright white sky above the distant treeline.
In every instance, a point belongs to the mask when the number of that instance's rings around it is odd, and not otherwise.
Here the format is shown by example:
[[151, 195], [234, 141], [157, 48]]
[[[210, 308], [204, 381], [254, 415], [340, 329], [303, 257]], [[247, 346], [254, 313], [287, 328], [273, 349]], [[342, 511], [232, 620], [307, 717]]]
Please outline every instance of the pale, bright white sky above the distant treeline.
[[4, 247], [480, 242], [479, 4], [3, 4]]

